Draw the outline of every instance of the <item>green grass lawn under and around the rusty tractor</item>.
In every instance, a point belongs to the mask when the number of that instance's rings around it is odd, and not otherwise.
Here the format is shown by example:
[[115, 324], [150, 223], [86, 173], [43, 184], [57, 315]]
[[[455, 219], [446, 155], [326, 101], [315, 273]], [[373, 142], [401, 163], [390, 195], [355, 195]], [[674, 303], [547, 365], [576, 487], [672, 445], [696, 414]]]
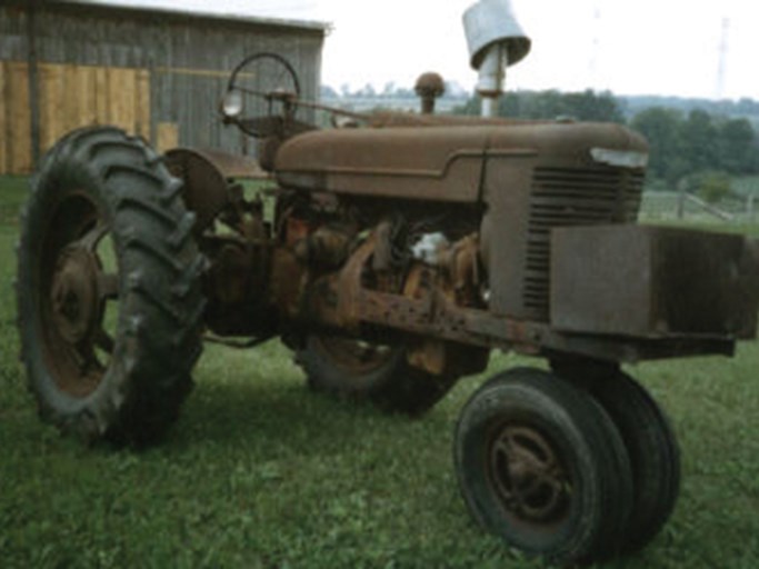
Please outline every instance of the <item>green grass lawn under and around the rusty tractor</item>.
[[[0, 562], [4, 568], [535, 567], [470, 520], [450, 449], [495, 356], [421, 420], [310, 393], [277, 342], [209, 346], [178, 425], [143, 451], [42, 425], [18, 365], [13, 244], [26, 181], [0, 179]], [[759, 566], [759, 346], [629, 368], [682, 447], [677, 510], [619, 568]]]

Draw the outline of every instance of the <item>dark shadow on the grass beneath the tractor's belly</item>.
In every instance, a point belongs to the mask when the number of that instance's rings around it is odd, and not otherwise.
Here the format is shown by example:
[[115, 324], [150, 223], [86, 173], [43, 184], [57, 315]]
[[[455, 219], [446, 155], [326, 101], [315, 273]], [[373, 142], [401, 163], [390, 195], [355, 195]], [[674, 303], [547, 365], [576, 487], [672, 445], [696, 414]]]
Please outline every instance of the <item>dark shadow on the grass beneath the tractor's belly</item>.
[[440, 408], [418, 418], [386, 413], [368, 403], [314, 392], [298, 377], [281, 383], [249, 378], [247, 383], [227, 385], [201, 377], [163, 446], [180, 450], [212, 445], [221, 452], [309, 456], [419, 437], [430, 429], [448, 445], [452, 427], [450, 415]]

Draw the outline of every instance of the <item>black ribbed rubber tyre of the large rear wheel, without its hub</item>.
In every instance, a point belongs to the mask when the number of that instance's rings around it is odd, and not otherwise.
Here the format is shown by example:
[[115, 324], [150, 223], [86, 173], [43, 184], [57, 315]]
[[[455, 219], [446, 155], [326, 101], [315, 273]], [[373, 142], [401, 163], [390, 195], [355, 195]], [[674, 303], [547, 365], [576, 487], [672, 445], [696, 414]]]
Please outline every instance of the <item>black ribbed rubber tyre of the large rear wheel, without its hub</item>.
[[47, 220], [53, 192], [88, 188], [107, 211], [119, 258], [119, 338], [91, 395], [72, 403], [51, 378], [36, 346], [39, 335], [24, 325], [30, 319], [20, 323], [21, 357], [40, 415], [87, 441], [139, 446], [163, 436], [191, 389], [190, 370], [201, 351], [204, 262], [190, 238], [193, 217], [181, 202], [181, 183], [157, 156], [120, 129], [83, 128], [63, 137], [32, 178], [19, 241], [19, 315], [33, 306], [24, 288], [33, 284], [33, 256], [41, 247], [34, 232]]

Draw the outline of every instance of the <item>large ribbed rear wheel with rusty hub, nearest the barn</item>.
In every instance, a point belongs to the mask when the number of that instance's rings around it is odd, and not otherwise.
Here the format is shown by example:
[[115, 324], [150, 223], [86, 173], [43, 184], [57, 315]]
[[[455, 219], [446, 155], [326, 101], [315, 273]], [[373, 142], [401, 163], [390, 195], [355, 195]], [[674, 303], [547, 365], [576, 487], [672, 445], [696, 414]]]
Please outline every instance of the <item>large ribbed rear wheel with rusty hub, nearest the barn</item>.
[[40, 415], [66, 432], [150, 442], [190, 390], [203, 259], [180, 192], [152, 150], [113, 128], [68, 134], [32, 182], [22, 360]]

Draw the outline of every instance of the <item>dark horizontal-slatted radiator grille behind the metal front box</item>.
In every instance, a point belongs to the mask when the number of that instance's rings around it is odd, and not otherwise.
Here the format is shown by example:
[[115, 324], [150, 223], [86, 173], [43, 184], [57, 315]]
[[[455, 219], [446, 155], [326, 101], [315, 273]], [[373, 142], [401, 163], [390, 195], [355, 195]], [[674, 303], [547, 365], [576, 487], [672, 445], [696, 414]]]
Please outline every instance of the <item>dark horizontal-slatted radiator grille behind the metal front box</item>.
[[549, 315], [550, 230], [635, 221], [643, 177], [616, 168], [535, 170], [522, 301], [536, 319]]

